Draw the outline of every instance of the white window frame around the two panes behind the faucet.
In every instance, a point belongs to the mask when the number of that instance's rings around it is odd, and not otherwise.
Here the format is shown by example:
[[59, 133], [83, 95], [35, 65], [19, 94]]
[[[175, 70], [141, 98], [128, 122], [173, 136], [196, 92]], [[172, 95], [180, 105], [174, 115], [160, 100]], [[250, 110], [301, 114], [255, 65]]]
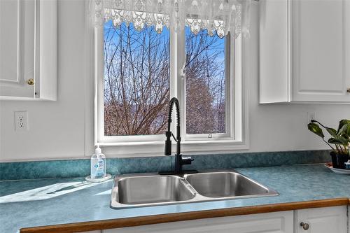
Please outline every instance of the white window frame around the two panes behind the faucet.
[[[225, 39], [225, 47], [230, 50], [227, 55], [229, 61], [225, 61], [225, 67], [230, 71], [225, 72], [230, 75], [226, 78], [225, 92], [230, 93], [230, 98], [226, 99], [226, 126], [230, 125], [225, 134], [212, 134], [208, 139], [208, 134], [187, 135], [186, 125], [186, 104], [185, 104], [185, 80], [179, 77], [184, 64], [185, 53], [185, 33], [184, 30], [170, 31], [170, 97], [178, 97], [181, 106], [181, 152], [188, 154], [207, 153], [230, 153], [232, 150], [248, 150], [248, 106], [245, 83], [245, 46], [244, 39], [239, 36], [233, 40]], [[94, 44], [94, 146], [99, 144], [104, 149], [106, 155], [115, 157], [139, 157], [164, 155], [165, 135], [146, 136], [104, 136], [104, 29], [95, 27], [93, 32]], [[179, 52], [181, 51], [181, 52]], [[176, 56], [172, 56], [176, 54]], [[174, 83], [177, 82], [177, 83]], [[232, 85], [231, 85], [232, 84]], [[226, 95], [227, 96], [227, 95]], [[230, 111], [228, 111], [230, 110]], [[233, 115], [230, 115], [233, 110]], [[172, 132], [175, 132], [175, 124], [172, 124]], [[185, 134], [184, 134], [185, 133]], [[230, 134], [230, 136], [227, 136]], [[141, 140], [142, 141], [141, 141]], [[173, 143], [174, 140], [173, 140]], [[175, 146], [173, 146], [173, 150]]]

